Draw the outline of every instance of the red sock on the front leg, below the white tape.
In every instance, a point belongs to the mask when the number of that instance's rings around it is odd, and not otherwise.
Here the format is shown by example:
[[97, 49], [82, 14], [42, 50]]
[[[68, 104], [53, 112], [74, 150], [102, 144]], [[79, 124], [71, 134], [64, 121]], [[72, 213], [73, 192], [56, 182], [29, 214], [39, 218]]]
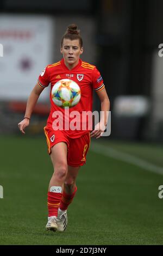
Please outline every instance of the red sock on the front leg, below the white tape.
[[62, 193], [48, 192], [48, 217], [58, 216]]

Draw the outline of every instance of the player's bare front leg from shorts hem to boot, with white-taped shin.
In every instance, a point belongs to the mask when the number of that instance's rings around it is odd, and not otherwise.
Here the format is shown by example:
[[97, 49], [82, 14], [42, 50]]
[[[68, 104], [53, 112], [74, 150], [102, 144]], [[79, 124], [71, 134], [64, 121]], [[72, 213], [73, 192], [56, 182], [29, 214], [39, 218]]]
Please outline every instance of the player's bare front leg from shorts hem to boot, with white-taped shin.
[[58, 228], [58, 208], [67, 175], [67, 144], [65, 142], [59, 142], [51, 148], [51, 160], [54, 173], [49, 182], [48, 223], [46, 229], [56, 231]]

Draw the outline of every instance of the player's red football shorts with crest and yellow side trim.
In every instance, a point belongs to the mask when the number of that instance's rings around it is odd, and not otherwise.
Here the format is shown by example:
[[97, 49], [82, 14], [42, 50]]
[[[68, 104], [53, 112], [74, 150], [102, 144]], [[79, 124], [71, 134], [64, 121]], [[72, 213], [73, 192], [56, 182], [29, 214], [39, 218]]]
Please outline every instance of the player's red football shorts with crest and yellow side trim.
[[86, 133], [79, 138], [70, 138], [64, 131], [54, 131], [49, 127], [44, 127], [45, 136], [47, 139], [48, 153], [51, 154], [51, 148], [59, 143], [67, 144], [67, 164], [69, 166], [78, 167], [86, 163], [86, 154], [90, 147], [90, 133]]

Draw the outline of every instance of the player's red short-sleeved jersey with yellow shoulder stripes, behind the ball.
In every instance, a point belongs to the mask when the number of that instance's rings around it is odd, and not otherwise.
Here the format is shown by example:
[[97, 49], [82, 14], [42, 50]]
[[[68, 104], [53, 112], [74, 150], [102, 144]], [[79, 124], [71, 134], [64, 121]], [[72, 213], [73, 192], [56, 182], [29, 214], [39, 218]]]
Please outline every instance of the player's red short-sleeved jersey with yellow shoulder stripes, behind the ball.
[[[49, 83], [51, 83], [52, 90], [55, 83], [65, 78], [71, 79], [79, 85], [81, 90], [81, 99], [76, 106], [69, 108], [67, 111], [67, 109], [65, 110], [64, 108], [55, 105], [50, 93], [51, 112], [49, 113], [47, 126], [51, 127], [53, 130], [54, 128], [57, 130], [58, 125], [55, 121], [57, 121], [58, 115], [56, 113], [58, 113], [57, 111], [60, 111], [64, 125], [61, 130], [64, 130], [70, 138], [78, 138], [92, 130], [87, 126], [87, 124], [86, 129], [85, 126], [83, 127], [82, 113], [83, 111], [92, 111], [93, 89], [96, 90], [96, 92], [102, 90], [104, 88], [104, 83], [101, 74], [96, 69], [96, 66], [83, 62], [81, 59], [79, 59], [79, 63], [71, 70], [69, 70], [65, 65], [64, 59], [61, 59], [59, 62], [52, 65], [47, 65], [41, 72], [38, 78], [38, 83], [41, 87], [47, 87]], [[72, 130], [70, 127], [67, 127], [67, 124], [65, 125], [67, 120], [69, 124], [72, 120], [74, 121], [75, 116], [70, 117], [72, 111], [78, 111], [79, 113], [78, 118], [76, 119], [78, 123], [78, 125], [76, 125], [76, 130]]]

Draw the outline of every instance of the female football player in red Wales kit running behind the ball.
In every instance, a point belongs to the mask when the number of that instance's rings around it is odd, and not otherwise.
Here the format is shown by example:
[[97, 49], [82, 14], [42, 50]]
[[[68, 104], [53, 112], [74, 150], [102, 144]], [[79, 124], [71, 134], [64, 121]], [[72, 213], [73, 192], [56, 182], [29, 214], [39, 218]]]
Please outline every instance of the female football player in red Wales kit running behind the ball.
[[[78, 83], [81, 90], [79, 103], [70, 108], [69, 112], [78, 111], [82, 118], [83, 111], [92, 111], [92, 92], [96, 91], [101, 101], [101, 111], [104, 113], [101, 120], [90, 133], [89, 128], [82, 130], [54, 129], [57, 111], [62, 113], [63, 121], [67, 121], [65, 109], [54, 104], [51, 99], [51, 112], [44, 128], [47, 138], [48, 153], [54, 167], [54, 173], [48, 188], [48, 222], [47, 230], [64, 231], [67, 226], [67, 208], [72, 202], [76, 192], [76, 179], [79, 169], [86, 162], [86, 154], [90, 145], [90, 137], [99, 138], [106, 127], [109, 111], [109, 99], [106, 94], [103, 78], [96, 66], [80, 59], [83, 53], [83, 41], [77, 26], [72, 24], [67, 27], [61, 40], [60, 48], [62, 59], [52, 65], [47, 65], [41, 72], [37, 83], [27, 101], [24, 119], [18, 124], [22, 133], [29, 125], [34, 106], [42, 92], [49, 83], [51, 90], [56, 82], [68, 78]], [[69, 122], [72, 120], [70, 117]], [[82, 124], [82, 119], [80, 120]]]

